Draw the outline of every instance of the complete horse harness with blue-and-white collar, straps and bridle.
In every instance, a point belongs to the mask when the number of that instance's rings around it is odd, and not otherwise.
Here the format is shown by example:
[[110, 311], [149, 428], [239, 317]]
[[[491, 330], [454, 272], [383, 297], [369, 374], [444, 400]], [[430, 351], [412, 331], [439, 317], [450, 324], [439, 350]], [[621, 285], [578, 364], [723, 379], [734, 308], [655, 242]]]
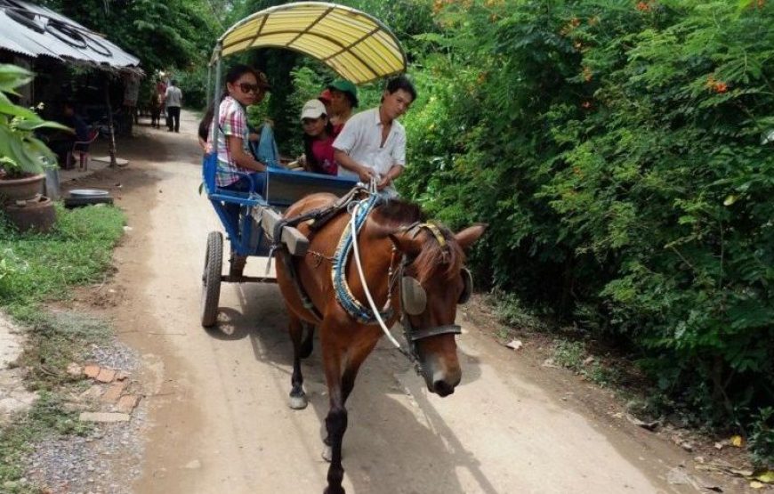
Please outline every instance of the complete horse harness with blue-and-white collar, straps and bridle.
[[[351, 204], [361, 201], [366, 203], [367, 207], [363, 209], [364, 213], [362, 215], [360, 214], [359, 210], [356, 212], [356, 214], [362, 216], [356, 218], [357, 230], [359, 231], [360, 227], [365, 223], [367, 216], [370, 214], [373, 207], [377, 206], [381, 200], [381, 198], [376, 195], [371, 195], [370, 198], [359, 199], [359, 196], [361, 196], [361, 193], [364, 191], [367, 191], [367, 189], [356, 187], [342, 198], [336, 200], [335, 203], [329, 207], [313, 209], [302, 215], [284, 219], [277, 223], [275, 226], [273, 235], [274, 243], [271, 246], [271, 250], [278, 251], [279, 258], [286, 266], [288, 277], [292, 281], [296, 294], [299, 296], [304, 309], [310, 312], [310, 315], [313, 316], [313, 319], [317, 323], [322, 321], [322, 314], [320, 314], [317, 307], [312, 303], [306, 290], [303, 288], [301, 279], [298, 276], [298, 271], [295, 266], [293, 256], [287, 251], [286, 248], [283, 248], [278, 241], [280, 238], [281, 229], [284, 226], [297, 226], [300, 223], [310, 221], [311, 232], [316, 232], [320, 230], [329, 220], [333, 219], [336, 215], [339, 215], [344, 209], [348, 209]], [[435, 223], [416, 222], [401, 228], [401, 231], [406, 231], [408, 234], [412, 235], [412, 237], [416, 237], [423, 230], [429, 231], [431, 236], [439, 243], [439, 246], [443, 250], [442, 262], [448, 262], [450, 246], [448, 245], [447, 239], [444, 238], [443, 232], [440, 230], [438, 225]], [[346, 281], [346, 276], [344, 275], [345, 270], [343, 268], [346, 266], [347, 260], [350, 257], [351, 241], [354, 235], [357, 235], [357, 231], [351, 231], [348, 223], [348, 226], [342, 232], [342, 238], [336, 247], [336, 253], [334, 256], [328, 257], [327, 255], [323, 255], [314, 251], [310, 251], [309, 253], [311, 255], [318, 256], [320, 261], [317, 265], [321, 263], [321, 259], [327, 259], [332, 263], [331, 276], [334, 282], [335, 296], [337, 301], [353, 319], [358, 320], [362, 324], [371, 325], [375, 324], [376, 322], [374, 313], [366, 306], [361, 304], [359, 300], [352, 295], [349, 284]], [[416, 345], [417, 342], [431, 336], [448, 334], [459, 335], [462, 330], [460, 326], [456, 324], [446, 324], [431, 328], [415, 328], [411, 324], [410, 316], [421, 315], [427, 310], [427, 292], [422, 287], [422, 284], [418, 279], [407, 276], [405, 274], [407, 268], [415, 262], [415, 256], [409, 257], [407, 255], [400, 254], [402, 260], [399, 264], [398, 271], [395, 271], [393, 269], [393, 264], [397, 255], [397, 247], [392, 247], [390, 269], [387, 275], [387, 302], [384, 304], [383, 310], [380, 311], [380, 315], [384, 319], [391, 317], [391, 297], [395, 287], [398, 285], [397, 281], [400, 279], [400, 307], [402, 312], [401, 326], [403, 326], [404, 336], [406, 337], [408, 344], [408, 350], [405, 350], [402, 347], [398, 347], [398, 350], [399, 352], [406, 355], [407, 359], [414, 363], [415, 366], [417, 366], [417, 371], [419, 371], [419, 358]], [[457, 300], [457, 304], [465, 304], [470, 299], [472, 294], [471, 272], [468, 271], [467, 268], [463, 267], [461, 276], [463, 278], [464, 289], [462, 294], [460, 294], [459, 299]]]

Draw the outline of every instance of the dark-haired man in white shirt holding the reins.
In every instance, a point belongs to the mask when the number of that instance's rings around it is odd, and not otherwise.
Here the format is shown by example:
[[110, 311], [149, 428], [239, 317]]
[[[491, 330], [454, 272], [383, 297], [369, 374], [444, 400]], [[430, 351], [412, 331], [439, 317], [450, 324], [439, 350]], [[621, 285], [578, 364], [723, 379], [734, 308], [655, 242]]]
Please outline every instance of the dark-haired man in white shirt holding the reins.
[[351, 117], [334, 142], [339, 176], [377, 181], [377, 188], [397, 195], [392, 181], [406, 166], [406, 129], [398, 117], [416, 99], [414, 85], [405, 76], [391, 79], [378, 108]]

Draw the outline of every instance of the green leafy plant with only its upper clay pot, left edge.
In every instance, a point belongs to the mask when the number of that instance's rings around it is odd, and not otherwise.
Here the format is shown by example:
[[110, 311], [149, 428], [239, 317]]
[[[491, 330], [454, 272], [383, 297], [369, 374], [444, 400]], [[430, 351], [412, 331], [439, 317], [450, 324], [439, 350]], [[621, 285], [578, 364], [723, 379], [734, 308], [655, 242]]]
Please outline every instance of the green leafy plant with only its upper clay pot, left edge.
[[66, 126], [41, 118], [31, 109], [14, 104], [8, 94], [28, 84], [33, 75], [15, 65], [0, 64], [0, 202], [35, 198], [46, 168], [56, 166], [56, 156], [35, 137], [36, 129]]

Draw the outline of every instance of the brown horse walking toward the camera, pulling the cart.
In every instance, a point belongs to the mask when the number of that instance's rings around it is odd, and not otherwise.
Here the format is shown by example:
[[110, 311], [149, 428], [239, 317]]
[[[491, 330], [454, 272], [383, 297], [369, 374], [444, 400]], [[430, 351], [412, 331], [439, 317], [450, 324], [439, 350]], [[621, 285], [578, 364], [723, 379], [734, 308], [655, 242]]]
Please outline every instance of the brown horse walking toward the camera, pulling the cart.
[[[330, 194], [310, 195], [288, 208], [286, 217], [327, 207], [335, 200]], [[390, 328], [401, 314], [404, 315], [404, 326], [412, 331], [407, 333], [410, 342], [407, 353], [421, 368], [431, 393], [447, 396], [454, 393], [462, 377], [454, 337], [459, 333], [459, 327], [454, 323], [456, 304], [461, 296], [464, 297], [464, 291], [470, 290], [470, 285], [465, 282], [463, 250], [479, 239], [485, 226], [474, 225], [452, 234], [443, 227], [417, 224], [422, 221], [421, 216], [419, 207], [402, 201], [392, 200], [375, 207], [360, 229], [359, 253], [367, 288], [376, 306], [391, 309], [391, 316], [385, 321], [387, 327]], [[342, 440], [347, 428], [344, 404], [355, 384], [360, 365], [383, 335], [378, 325], [351, 316], [335, 295], [333, 257], [350, 219], [351, 215], [343, 212], [314, 232], [308, 223], [301, 223], [298, 229], [310, 238], [309, 252], [304, 257], [284, 257], [286, 263], [294, 263], [292, 271], [285, 263], [277, 263], [278, 285], [285, 298], [294, 346], [290, 392], [290, 406], [294, 409], [302, 409], [307, 404], [300, 360], [311, 352], [313, 328], [317, 326], [319, 330], [330, 396], [325, 441], [330, 449], [324, 454], [331, 462], [327, 474], [327, 494], [344, 492]], [[365, 291], [354, 259], [344, 267], [351, 295], [366, 305]], [[421, 305], [419, 310], [411, 311], [415, 315], [408, 315], [401, 308], [401, 283], [396, 282], [399, 275], [417, 280], [421, 285], [419, 291], [426, 296], [426, 304]], [[302, 296], [302, 292], [307, 296]], [[309, 329], [304, 336], [305, 327]]]

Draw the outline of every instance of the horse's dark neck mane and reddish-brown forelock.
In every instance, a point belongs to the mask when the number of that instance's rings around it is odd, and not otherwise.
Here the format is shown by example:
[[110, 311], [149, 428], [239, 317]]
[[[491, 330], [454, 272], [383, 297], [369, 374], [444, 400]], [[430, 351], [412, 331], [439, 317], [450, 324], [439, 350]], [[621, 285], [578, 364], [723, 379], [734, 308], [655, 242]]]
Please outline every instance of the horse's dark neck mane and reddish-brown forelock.
[[[421, 207], [400, 199], [391, 199], [375, 207], [373, 217], [382, 226], [394, 228], [393, 231], [426, 221]], [[465, 260], [463, 249], [457, 244], [454, 234], [446, 226], [435, 224], [446, 239], [447, 247], [441, 247], [429, 231], [420, 231], [419, 235], [424, 236], [423, 247], [411, 264], [420, 282], [436, 274], [444, 279], [451, 279], [459, 272]]]

